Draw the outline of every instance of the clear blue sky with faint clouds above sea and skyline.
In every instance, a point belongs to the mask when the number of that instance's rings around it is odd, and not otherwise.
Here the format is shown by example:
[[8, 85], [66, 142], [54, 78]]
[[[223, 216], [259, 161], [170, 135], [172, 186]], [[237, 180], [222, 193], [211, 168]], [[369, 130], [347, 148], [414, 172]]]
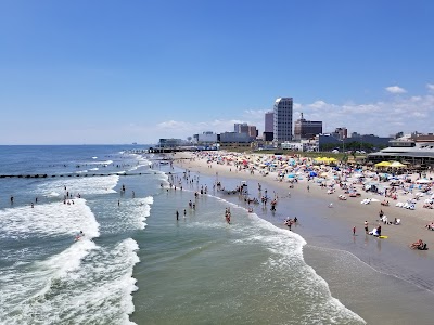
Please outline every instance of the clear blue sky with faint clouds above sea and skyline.
[[434, 132], [434, 1], [0, 2], [0, 144], [156, 143], [292, 96], [324, 131]]

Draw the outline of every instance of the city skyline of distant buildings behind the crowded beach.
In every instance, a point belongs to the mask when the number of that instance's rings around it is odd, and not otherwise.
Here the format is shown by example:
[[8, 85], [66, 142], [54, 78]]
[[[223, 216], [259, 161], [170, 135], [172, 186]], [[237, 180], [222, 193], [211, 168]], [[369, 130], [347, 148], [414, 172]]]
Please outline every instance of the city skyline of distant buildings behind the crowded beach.
[[[294, 125], [294, 129], [293, 129]], [[189, 136], [189, 141], [181, 139], [161, 139], [159, 146], [178, 146], [186, 143], [199, 144], [205, 146], [261, 146], [272, 145], [282, 146], [297, 151], [318, 151], [321, 147], [336, 146], [345, 151], [345, 143], [357, 142], [361, 144], [381, 147], [387, 146], [393, 138], [399, 138], [404, 134], [400, 132], [395, 136], [376, 136], [374, 134], [359, 134], [353, 132], [348, 136], [346, 127], [337, 127], [331, 133], [323, 133], [322, 121], [307, 120], [303, 113], [301, 117], [293, 123], [293, 98], [279, 98], [273, 103], [272, 110], [265, 113], [264, 132], [258, 136], [256, 126], [247, 122], [238, 122], [233, 125], [233, 131], [221, 132], [217, 134], [213, 131], [205, 131], [201, 134]], [[419, 133], [412, 133], [412, 138], [417, 138]], [[423, 136], [433, 138], [432, 133]], [[426, 139], [427, 139], [426, 138]]]

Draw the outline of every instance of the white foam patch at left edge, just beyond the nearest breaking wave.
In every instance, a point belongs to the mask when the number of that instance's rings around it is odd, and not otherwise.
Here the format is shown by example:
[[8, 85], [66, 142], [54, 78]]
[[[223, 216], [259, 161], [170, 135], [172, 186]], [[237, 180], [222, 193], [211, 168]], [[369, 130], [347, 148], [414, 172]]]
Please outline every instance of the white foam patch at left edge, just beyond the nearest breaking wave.
[[74, 236], [78, 231], [88, 238], [99, 236], [99, 224], [82, 198], [71, 205], [52, 203], [0, 210], [0, 236], [4, 238]]

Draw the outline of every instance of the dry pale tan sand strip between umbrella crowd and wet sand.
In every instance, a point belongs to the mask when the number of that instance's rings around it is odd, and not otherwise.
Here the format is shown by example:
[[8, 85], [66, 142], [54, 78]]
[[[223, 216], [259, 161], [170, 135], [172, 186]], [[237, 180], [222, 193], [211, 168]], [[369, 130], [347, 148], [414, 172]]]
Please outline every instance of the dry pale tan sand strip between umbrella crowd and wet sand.
[[[216, 164], [215, 161], [208, 162], [206, 156], [197, 157], [190, 153], [178, 153], [176, 158], [192, 158], [192, 159], [180, 159], [179, 166], [186, 169], [196, 170], [203, 174], [238, 178], [246, 181], [257, 181], [261, 184], [276, 187], [282, 200], [296, 200], [299, 195], [315, 200], [327, 200], [324, 211], [331, 218], [347, 224], [348, 233], [353, 226], [356, 226], [357, 233], [365, 233], [363, 222], [368, 221], [369, 230], [371, 231], [378, 224], [382, 226], [382, 235], [387, 236], [388, 242], [396, 243], [401, 247], [408, 247], [411, 243], [421, 238], [427, 244], [427, 247], [434, 247], [434, 232], [427, 231], [425, 225], [434, 221], [434, 210], [423, 208], [423, 199], [418, 200], [414, 204], [416, 209], [409, 210], [405, 208], [396, 207], [395, 205], [400, 202], [410, 199], [412, 194], [398, 194], [397, 200], [386, 198], [390, 206], [382, 206], [381, 202], [385, 198], [371, 192], [365, 192], [362, 184], [355, 184], [357, 192], [360, 193], [358, 197], [349, 197], [348, 194], [344, 193], [339, 186], [335, 186], [335, 192], [328, 194], [327, 187], [321, 187], [320, 183], [314, 180], [307, 181], [306, 178], [298, 180], [297, 183], [289, 183], [288, 179], [279, 181], [278, 172], [268, 172], [266, 176], [259, 172], [251, 173], [248, 169], [238, 170], [233, 165]], [[427, 177], [430, 177], [429, 174]], [[412, 176], [413, 179], [417, 174]], [[290, 188], [290, 185], [293, 187]], [[309, 191], [307, 190], [309, 186]], [[229, 188], [228, 188], [229, 190]], [[232, 188], [230, 188], [232, 190]], [[288, 193], [291, 192], [291, 198], [288, 197]], [[416, 193], [416, 192], [414, 192]], [[269, 195], [272, 193], [269, 193]], [[340, 195], [345, 195], [346, 200], [341, 200]], [[361, 204], [365, 199], [374, 199], [369, 204]], [[333, 205], [333, 208], [329, 208], [329, 204]], [[400, 219], [400, 225], [384, 224], [379, 220], [379, 212], [382, 210], [390, 222], [396, 219]], [[426, 253], [426, 257], [432, 258], [431, 253]]]

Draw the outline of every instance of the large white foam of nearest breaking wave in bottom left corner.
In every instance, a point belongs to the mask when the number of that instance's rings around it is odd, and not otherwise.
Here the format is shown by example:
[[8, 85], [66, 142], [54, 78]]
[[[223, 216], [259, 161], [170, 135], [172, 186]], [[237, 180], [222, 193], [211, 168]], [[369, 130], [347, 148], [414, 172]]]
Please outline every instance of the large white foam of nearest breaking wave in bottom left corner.
[[[60, 256], [35, 263], [34, 271], [10, 276], [0, 298], [0, 323], [133, 324], [128, 315], [135, 311], [132, 269], [140, 261], [139, 246], [131, 238], [113, 248], [89, 246], [79, 268], [67, 262], [73, 251], [77, 260], [76, 248], [92, 244], [77, 242]], [[64, 262], [67, 266], [59, 269]]]

